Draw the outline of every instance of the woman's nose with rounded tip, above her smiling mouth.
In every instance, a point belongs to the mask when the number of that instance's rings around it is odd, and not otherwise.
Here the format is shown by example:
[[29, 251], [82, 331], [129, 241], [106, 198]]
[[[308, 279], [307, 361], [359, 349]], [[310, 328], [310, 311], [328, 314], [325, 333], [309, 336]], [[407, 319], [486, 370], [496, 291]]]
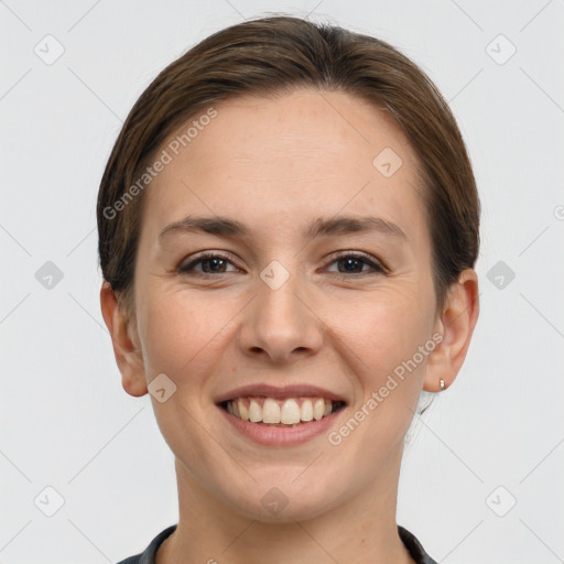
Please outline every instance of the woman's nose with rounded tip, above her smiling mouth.
[[294, 362], [321, 350], [324, 323], [297, 275], [273, 289], [257, 280], [257, 295], [245, 308], [239, 343], [245, 355], [275, 364]]

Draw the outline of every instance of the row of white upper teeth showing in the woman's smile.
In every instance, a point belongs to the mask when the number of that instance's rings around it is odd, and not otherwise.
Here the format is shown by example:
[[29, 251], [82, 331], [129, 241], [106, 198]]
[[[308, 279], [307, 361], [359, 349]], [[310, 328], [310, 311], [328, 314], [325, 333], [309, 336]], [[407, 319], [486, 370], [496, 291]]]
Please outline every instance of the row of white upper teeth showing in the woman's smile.
[[253, 423], [295, 425], [300, 421], [321, 420], [333, 411], [332, 400], [323, 398], [237, 398], [227, 402], [227, 411]]

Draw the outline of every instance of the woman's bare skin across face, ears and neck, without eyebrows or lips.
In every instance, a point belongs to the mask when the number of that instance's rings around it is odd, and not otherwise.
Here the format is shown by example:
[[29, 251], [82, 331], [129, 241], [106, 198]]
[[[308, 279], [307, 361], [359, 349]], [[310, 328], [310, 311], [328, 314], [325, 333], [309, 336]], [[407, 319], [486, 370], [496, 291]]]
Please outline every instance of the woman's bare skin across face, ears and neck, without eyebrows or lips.
[[[403, 437], [421, 390], [451, 386], [464, 361], [476, 273], [465, 270], [437, 311], [415, 153], [380, 110], [312, 90], [214, 107], [217, 117], [148, 188], [132, 318], [107, 283], [100, 293], [124, 390], [143, 395], [162, 372], [177, 387], [152, 400], [180, 503], [156, 561], [410, 563], [395, 523]], [[383, 148], [403, 161], [388, 178], [372, 165]], [[188, 214], [235, 218], [250, 235], [159, 239]], [[303, 237], [313, 219], [343, 215], [378, 216], [405, 238]], [[202, 274], [209, 262], [195, 267], [199, 276], [177, 271], [203, 250], [227, 254], [224, 272]], [[336, 251], [364, 251], [389, 272], [360, 261], [350, 273]], [[272, 260], [290, 273], [278, 290], [260, 278]], [[435, 333], [442, 343], [338, 446], [325, 433], [258, 445], [214, 403], [245, 384], [319, 386], [347, 401], [338, 430]], [[261, 503], [273, 487], [289, 501], [275, 516]]]

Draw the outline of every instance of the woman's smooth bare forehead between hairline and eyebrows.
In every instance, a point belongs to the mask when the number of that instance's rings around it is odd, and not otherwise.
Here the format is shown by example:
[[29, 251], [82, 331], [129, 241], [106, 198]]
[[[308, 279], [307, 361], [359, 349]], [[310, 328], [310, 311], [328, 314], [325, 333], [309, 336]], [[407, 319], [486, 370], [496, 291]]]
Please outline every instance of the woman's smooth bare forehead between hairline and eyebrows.
[[288, 229], [291, 218], [297, 232], [300, 218], [367, 208], [408, 231], [423, 227], [414, 152], [376, 106], [299, 90], [239, 96], [214, 109], [213, 119], [203, 111], [161, 147], [170, 163], [148, 189], [143, 231], [155, 237], [187, 214], [236, 214]]

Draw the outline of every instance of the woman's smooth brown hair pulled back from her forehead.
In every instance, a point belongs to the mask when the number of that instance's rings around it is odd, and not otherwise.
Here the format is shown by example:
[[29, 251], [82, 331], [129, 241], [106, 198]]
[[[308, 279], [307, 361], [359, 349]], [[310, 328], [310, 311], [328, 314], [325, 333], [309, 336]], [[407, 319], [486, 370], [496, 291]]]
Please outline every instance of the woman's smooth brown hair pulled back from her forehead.
[[390, 116], [417, 155], [433, 251], [437, 306], [479, 247], [479, 199], [470, 161], [446, 101], [429, 77], [388, 43], [328, 24], [276, 15], [205, 39], [151, 83], [113, 145], [97, 204], [104, 279], [130, 310], [143, 192], [108, 214], [163, 141], [198, 111], [237, 95], [338, 90]]

